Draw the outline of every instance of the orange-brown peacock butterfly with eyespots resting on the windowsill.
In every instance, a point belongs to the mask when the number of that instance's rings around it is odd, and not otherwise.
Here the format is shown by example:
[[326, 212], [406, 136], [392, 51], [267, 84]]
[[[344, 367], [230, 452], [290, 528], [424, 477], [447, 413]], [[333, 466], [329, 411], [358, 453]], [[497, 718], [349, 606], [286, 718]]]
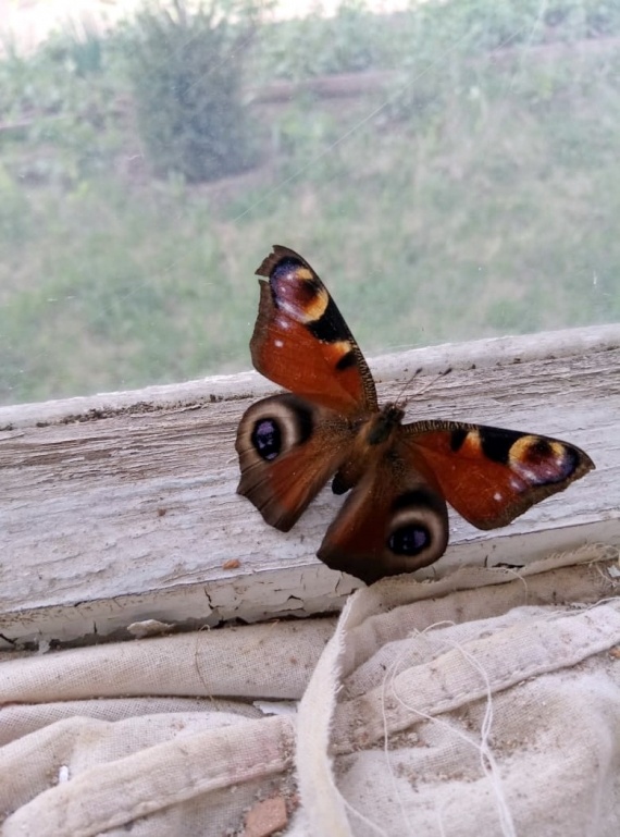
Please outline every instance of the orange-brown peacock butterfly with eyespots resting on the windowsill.
[[257, 270], [250, 341], [261, 374], [288, 390], [244, 414], [237, 492], [288, 531], [327, 480], [349, 492], [318, 557], [370, 584], [439, 558], [446, 501], [479, 529], [506, 526], [594, 468], [579, 447], [548, 436], [458, 421], [404, 424], [379, 407], [363, 355], [323, 282], [275, 245]]

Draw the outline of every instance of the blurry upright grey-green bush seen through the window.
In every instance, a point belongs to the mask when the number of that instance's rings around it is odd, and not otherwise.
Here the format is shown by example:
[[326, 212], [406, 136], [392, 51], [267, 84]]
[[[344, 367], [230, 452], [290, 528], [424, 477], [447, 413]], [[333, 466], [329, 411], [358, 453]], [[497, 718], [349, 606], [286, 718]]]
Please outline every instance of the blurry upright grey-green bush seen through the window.
[[151, 4], [131, 28], [138, 131], [157, 174], [189, 183], [249, 168], [255, 153], [240, 99], [241, 58], [253, 21], [231, 24], [212, 0], [189, 13]]

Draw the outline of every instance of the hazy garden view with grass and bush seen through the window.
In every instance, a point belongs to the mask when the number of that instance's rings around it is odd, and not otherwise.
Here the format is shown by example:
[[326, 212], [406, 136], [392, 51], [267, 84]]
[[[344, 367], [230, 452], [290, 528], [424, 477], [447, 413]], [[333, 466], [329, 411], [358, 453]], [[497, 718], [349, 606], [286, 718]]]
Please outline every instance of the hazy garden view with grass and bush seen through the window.
[[620, 0], [52, 5], [0, 1], [0, 403], [249, 368], [274, 243], [367, 356], [620, 319]]

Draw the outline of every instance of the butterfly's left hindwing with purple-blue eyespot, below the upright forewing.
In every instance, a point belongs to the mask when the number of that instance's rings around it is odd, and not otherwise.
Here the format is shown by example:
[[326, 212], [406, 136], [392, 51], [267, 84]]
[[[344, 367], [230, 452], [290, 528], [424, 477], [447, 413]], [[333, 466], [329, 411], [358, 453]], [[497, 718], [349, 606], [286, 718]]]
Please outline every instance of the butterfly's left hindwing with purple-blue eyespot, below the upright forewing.
[[247, 496], [268, 524], [288, 531], [352, 442], [352, 431], [337, 414], [295, 395], [274, 395], [253, 404], [239, 422], [236, 450]]

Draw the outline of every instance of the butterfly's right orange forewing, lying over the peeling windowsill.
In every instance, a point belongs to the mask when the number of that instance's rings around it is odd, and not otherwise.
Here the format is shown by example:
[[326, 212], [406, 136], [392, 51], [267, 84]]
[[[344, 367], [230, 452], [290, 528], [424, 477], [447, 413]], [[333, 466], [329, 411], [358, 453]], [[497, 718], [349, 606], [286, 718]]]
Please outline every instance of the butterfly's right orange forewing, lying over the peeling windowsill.
[[506, 526], [594, 468], [579, 447], [548, 436], [451, 421], [402, 430], [399, 456], [479, 529]]

